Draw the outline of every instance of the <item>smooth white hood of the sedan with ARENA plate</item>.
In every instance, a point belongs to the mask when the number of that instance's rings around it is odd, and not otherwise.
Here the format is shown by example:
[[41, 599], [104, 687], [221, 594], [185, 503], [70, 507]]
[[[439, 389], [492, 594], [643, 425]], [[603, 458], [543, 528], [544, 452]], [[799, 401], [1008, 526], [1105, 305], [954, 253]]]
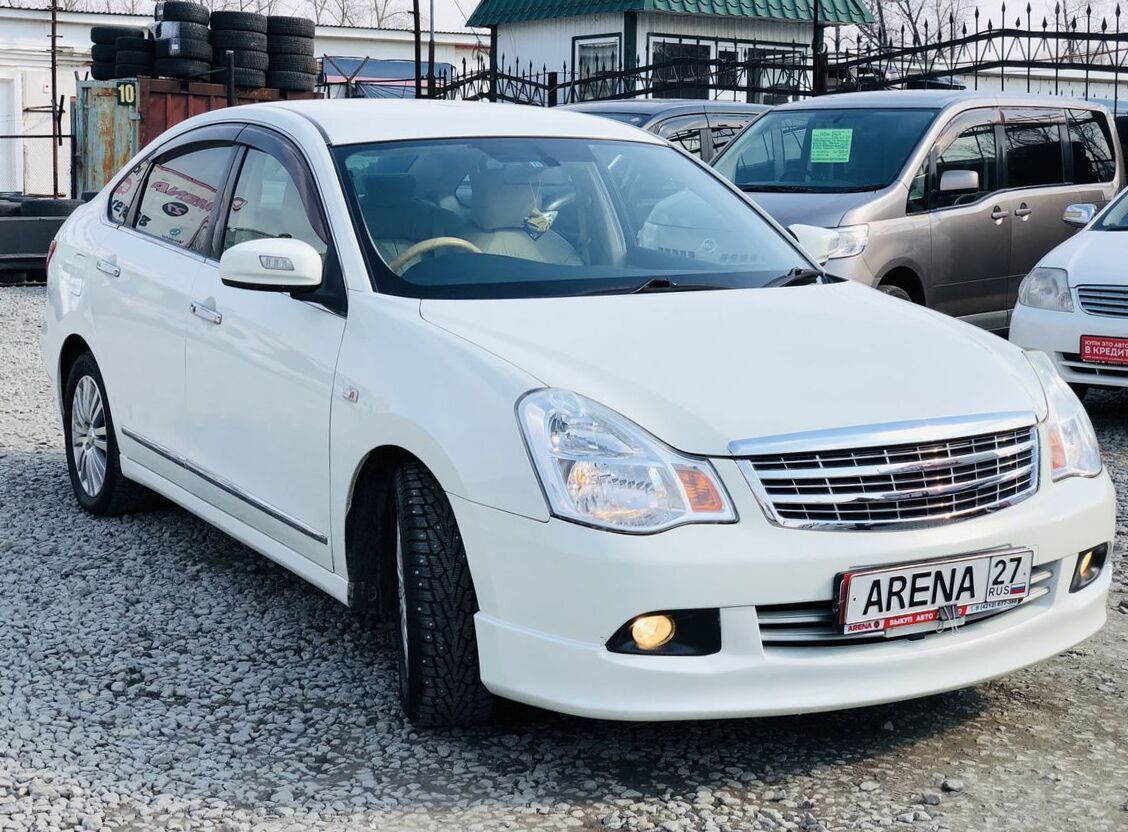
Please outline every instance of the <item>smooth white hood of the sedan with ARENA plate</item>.
[[1016, 347], [854, 282], [424, 300], [421, 315], [703, 455], [802, 431], [1045, 410]]

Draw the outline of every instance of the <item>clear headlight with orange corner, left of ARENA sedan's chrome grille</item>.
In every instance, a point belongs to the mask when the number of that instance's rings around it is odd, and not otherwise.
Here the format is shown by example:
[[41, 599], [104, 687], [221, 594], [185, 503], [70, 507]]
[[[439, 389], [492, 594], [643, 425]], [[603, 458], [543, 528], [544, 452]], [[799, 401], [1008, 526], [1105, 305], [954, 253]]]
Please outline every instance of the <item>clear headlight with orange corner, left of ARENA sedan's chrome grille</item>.
[[517, 410], [558, 517], [635, 533], [737, 519], [708, 460], [678, 453], [602, 405], [545, 389]]

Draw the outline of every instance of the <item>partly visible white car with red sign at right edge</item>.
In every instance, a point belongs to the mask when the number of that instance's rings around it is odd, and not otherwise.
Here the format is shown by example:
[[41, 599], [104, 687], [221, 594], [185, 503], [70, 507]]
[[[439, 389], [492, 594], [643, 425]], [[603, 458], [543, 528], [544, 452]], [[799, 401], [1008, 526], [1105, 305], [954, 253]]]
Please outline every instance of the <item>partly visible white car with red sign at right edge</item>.
[[1090, 387], [1128, 387], [1128, 191], [1098, 213], [1069, 205], [1082, 228], [1038, 262], [1019, 286], [1011, 340], [1049, 354], [1084, 398]]

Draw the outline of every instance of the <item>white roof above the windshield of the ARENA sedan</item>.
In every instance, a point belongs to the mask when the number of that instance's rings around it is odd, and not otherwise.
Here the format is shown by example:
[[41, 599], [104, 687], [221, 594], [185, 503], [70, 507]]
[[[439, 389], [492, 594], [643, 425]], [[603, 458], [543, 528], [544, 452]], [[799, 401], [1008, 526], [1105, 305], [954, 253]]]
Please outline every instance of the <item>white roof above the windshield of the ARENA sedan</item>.
[[[661, 143], [636, 127], [559, 107], [485, 101], [334, 98], [248, 105], [256, 115], [285, 110], [312, 122], [329, 144], [490, 136], [608, 139]], [[223, 109], [209, 121], [226, 121]], [[281, 114], [280, 114], [281, 115]], [[200, 123], [200, 122], [197, 122]]]

